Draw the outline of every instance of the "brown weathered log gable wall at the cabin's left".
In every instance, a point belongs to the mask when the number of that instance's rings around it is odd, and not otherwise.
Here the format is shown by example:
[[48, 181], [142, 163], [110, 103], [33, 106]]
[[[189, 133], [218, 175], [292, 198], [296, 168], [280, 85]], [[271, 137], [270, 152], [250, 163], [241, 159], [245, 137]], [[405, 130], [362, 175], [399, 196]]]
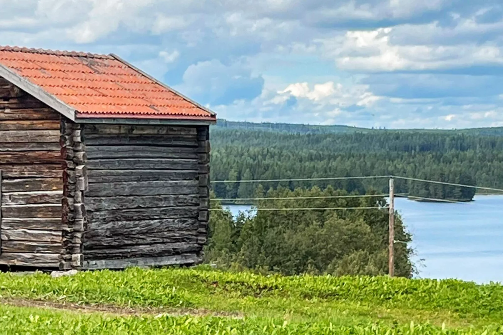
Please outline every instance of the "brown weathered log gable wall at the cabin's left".
[[59, 266], [59, 137], [59, 113], [0, 77], [0, 265]]

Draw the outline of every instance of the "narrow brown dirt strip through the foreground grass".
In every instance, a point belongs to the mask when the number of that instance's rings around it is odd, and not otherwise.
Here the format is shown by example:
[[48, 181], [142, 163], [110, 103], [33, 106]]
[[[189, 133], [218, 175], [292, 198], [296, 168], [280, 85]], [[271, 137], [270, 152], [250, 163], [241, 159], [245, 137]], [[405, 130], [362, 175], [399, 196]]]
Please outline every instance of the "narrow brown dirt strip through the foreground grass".
[[30, 300], [24, 298], [0, 298], [0, 304], [16, 307], [37, 307], [58, 309], [66, 311], [78, 311], [83, 313], [103, 313], [113, 316], [154, 316], [165, 314], [169, 316], [220, 316], [229, 318], [242, 318], [240, 313], [215, 312], [207, 309], [196, 308], [147, 308], [147, 307], [121, 307], [114, 305], [80, 305], [70, 302], [55, 302]]

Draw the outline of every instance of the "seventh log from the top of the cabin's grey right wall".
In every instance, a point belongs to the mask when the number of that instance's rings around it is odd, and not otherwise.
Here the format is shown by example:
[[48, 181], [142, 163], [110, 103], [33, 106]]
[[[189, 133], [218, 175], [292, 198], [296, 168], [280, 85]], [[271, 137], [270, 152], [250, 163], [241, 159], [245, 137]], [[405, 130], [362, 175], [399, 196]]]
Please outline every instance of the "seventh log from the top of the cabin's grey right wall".
[[119, 196], [90, 197], [86, 195], [86, 208], [90, 211], [127, 208], [196, 206], [197, 195], [157, 195], [157, 196]]

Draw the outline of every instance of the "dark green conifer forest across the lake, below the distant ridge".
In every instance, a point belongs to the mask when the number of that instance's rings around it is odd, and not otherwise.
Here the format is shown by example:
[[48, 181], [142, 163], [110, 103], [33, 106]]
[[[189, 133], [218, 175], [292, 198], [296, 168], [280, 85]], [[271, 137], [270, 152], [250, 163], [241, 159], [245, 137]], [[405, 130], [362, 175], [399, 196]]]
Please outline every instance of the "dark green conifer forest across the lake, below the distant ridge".
[[[296, 129], [295, 125], [289, 125]], [[287, 127], [287, 126], [285, 126]], [[309, 126], [306, 126], [309, 127]], [[320, 126], [318, 126], [320, 127]], [[491, 130], [492, 129], [492, 130]], [[464, 131], [367, 131], [305, 134], [216, 126], [211, 129], [212, 180], [396, 175], [503, 188], [503, 136], [496, 128]], [[291, 189], [333, 185], [349, 192], [387, 192], [386, 180], [261, 183]], [[258, 184], [216, 184], [222, 198], [246, 198]], [[396, 192], [471, 200], [472, 188], [396, 182]]]

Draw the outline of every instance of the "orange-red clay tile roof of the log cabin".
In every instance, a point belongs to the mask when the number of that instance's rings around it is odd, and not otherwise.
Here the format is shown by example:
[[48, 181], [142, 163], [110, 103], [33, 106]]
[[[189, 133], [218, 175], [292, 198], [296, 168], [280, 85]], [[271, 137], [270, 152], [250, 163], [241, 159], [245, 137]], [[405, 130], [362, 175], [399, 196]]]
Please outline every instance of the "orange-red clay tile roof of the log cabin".
[[0, 46], [0, 64], [74, 108], [79, 118], [216, 118], [114, 55]]

